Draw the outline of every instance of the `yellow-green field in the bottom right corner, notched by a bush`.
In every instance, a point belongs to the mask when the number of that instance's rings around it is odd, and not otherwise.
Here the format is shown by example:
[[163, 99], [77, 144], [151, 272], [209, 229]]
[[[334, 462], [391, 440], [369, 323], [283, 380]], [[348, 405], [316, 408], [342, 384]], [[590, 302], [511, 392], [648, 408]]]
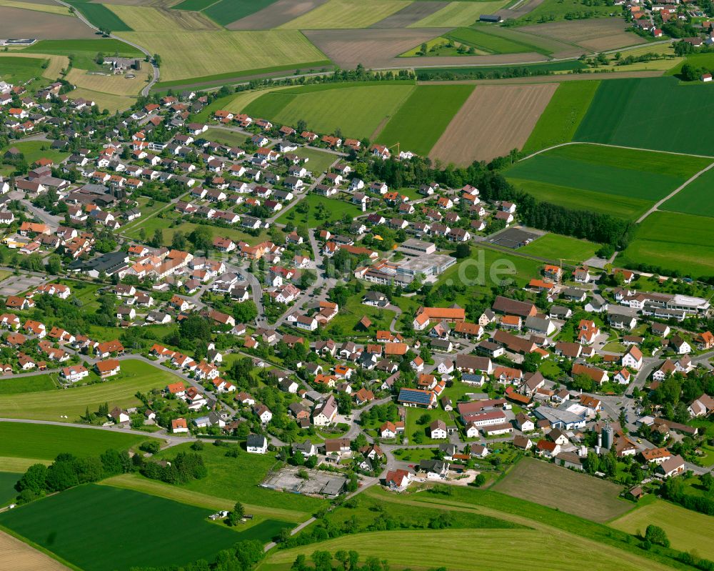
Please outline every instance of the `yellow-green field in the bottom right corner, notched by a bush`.
[[650, 498], [646, 505], [610, 522], [617, 530], [633, 535], [645, 535], [648, 525], [665, 530], [672, 547], [680, 551], [696, 551], [700, 557], [714, 561], [714, 518], [686, 510], [670, 502]]

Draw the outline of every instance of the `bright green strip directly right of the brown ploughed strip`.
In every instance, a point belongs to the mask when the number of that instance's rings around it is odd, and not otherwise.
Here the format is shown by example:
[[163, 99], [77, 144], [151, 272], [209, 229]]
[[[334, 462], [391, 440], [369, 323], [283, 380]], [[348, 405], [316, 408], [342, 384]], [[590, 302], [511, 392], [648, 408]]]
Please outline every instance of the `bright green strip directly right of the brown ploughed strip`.
[[523, 152], [534, 152], [573, 140], [593, 101], [599, 81], [563, 81], [540, 115]]

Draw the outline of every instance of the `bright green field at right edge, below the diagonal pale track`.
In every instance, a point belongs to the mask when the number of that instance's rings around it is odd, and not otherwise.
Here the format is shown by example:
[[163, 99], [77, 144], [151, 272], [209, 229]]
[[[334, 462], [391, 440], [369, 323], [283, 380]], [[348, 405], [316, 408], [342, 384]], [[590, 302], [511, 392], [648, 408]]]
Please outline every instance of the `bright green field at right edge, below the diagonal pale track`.
[[[620, 258], [618, 258], [620, 259]], [[693, 277], [714, 275], [712, 222], [708, 217], [653, 212], [638, 227], [621, 257]]]

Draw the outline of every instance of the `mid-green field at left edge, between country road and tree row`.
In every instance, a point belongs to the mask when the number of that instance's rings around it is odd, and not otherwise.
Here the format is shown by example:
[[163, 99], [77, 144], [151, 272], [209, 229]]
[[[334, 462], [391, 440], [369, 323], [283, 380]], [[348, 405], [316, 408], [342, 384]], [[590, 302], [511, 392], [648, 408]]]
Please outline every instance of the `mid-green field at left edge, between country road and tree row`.
[[141, 436], [99, 428], [0, 422], [0, 457], [54, 460], [60, 452], [99, 456], [109, 448], [127, 450], [146, 440], [151, 440], [149, 433]]

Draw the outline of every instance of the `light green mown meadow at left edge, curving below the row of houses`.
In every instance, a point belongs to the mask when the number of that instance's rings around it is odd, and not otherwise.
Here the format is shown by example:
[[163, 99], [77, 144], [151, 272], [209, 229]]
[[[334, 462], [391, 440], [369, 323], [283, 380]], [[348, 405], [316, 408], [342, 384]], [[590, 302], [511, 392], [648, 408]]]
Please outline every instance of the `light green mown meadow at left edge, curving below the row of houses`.
[[[176, 377], [148, 363], [128, 359], [121, 362], [119, 377], [87, 387], [56, 389], [26, 394], [0, 395], [0, 410], [6, 418], [27, 418], [74, 422], [86, 412], [86, 407], [96, 410], [100, 404], [109, 408], [131, 407], [140, 404], [134, 397], [136, 391], [161, 389], [175, 382]], [[61, 416], [66, 415], [64, 419]]]

